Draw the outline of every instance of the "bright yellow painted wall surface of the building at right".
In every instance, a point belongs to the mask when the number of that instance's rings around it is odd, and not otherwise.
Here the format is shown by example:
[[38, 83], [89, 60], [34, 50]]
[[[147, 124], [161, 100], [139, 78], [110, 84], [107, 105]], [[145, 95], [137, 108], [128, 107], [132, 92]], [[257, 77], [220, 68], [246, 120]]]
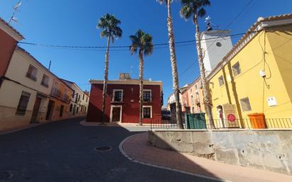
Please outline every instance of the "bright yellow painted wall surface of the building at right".
[[[210, 79], [214, 119], [219, 119], [216, 107], [225, 103], [235, 104], [239, 118], [248, 118], [250, 113], [264, 113], [266, 118], [292, 118], [291, 63], [274, 55], [276, 52], [292, 62], [292, 43], [287, 42], [288, 38], [292, 39], [291, 25], [282, 30], [287, 30], [290, 35], [281, 32], [286, 37], [282, 39], [277, 32], [258, 33]], [[241, 74], [233, 76], [232, 65], [236, 62], [240, 62]], [[265, 70], [266, 79], [259, 75], [261, 70]], [[219, 86], [218, 78], [222, 75], [225, 84]], [[249, 98], [252, 108], [246, 112], [240, 106], [240, 99], [245, 97]], [[275, 97], [278, 105], [269, 107], [266, 101], [268, 97]]]

